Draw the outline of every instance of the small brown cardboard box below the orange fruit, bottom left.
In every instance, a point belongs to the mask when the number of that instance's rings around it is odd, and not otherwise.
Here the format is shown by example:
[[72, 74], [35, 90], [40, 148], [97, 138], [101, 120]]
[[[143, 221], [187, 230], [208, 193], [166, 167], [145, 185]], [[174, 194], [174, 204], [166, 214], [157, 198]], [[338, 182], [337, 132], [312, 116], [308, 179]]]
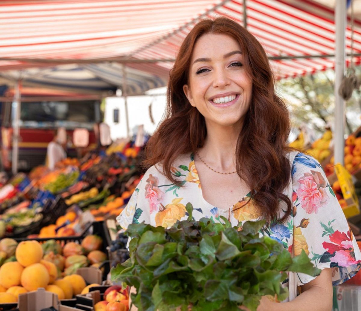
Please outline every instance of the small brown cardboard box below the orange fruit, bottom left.
[[40, 311], [50, 307], [59, 308], [58, 295], [46, 292], [44, 288], [19, 295], [19, 311]]

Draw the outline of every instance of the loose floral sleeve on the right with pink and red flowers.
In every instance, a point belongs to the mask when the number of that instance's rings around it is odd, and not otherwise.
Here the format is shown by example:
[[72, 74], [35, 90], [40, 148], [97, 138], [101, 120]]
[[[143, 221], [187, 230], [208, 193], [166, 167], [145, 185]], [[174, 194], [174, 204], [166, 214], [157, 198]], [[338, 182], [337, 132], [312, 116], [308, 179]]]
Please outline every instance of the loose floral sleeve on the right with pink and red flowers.
[[[293, 243], [295, 255], [305, 250], [319, 269], [334, 268], [332, 284], [354, 276], [361, 253], [321, 165], [299, 153], [292, 165]], [[297, 274], [297, 285], [314, 277]]]

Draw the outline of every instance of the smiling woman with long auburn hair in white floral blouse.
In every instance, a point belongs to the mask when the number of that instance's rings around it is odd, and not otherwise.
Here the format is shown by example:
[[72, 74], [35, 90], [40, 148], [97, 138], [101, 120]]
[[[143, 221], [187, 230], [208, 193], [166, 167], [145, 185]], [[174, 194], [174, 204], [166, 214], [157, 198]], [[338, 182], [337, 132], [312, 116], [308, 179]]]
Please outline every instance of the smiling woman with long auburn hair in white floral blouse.
[[257, 310], [330, 311], [332, 285], [357, 273], [361, 253], [321, 165], [287, 147], [290, 116], [261, 44], [230, 19], [200, 21], [181, 45], [167, 98], [147, 145], [151, 167], [121, 226], [170, 227], [187, 219], [188, 202], [195, 220], [266, 219], [264, 235], [292, 255], [304, 250], [322, 272], [288, 273], [288, 299], [263, 297]]

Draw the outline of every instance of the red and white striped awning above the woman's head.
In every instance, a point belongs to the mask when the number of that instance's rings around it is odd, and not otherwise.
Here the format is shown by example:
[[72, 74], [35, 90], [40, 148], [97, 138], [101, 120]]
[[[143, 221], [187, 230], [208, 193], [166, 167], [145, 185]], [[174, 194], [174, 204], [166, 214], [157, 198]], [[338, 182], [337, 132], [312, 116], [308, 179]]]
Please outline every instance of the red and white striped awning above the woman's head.
[[[312, 0], [247, 0], [246, 12], [247, 29], [270, 57], [309, 57], [271, 60], [277, 78], [334, 67], [334, 58], [326, 57], [335, 48], [333, 8]], [[0, 76], [6, 78], [11, 72], [14, 78], [14, 70], [21, 70], [26, 80], [27, 68], [77, 62], [82, 67], [84, 62], [127, 57], [167, 60], [127, 63], [166, 79], [173, 65], [169, 60], [193, 25], [217, 16], [243, 24], [243, 0], [1, 1]], [[350, 39], [349, 25], [347, 53]], [[355, 53], [361, 53], [358, 19], [354, 40]], [[354, 60], [360, 63], [360, 57]]]

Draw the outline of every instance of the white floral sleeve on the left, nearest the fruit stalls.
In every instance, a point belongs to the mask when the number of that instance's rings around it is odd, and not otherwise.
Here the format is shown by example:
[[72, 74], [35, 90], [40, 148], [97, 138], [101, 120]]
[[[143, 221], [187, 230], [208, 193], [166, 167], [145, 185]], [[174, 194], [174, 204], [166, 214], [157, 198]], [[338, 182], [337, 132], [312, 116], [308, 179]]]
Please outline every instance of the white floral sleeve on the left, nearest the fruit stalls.
[[[145, 175], [144, 175], [145, 176]], [[117, 217], [118, 223], [126, 230], [132, 223], [149, 223], [149, 203], [145, 200], [144, 177], [135, 188], [126, 207]], [[148, 204], [148, 208], [147, 208]]]

